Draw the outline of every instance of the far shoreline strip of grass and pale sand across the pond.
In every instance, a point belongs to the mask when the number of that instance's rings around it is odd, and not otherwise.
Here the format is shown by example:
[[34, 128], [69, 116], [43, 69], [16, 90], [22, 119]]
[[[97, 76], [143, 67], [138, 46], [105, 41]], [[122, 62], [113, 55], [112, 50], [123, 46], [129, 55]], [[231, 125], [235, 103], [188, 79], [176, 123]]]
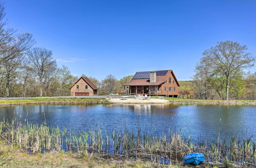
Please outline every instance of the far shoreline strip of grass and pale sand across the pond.
[[248, 105], [256, 106], [256, 100], [199, 100], [199, 99], [164, 99], [151, 98], [150, 100], [135, 100], [127, 98], [22, 98], [22, 99], [0, 99], [0, 106], [29, 105], [29, 104], [174, 104], [174, 105]]

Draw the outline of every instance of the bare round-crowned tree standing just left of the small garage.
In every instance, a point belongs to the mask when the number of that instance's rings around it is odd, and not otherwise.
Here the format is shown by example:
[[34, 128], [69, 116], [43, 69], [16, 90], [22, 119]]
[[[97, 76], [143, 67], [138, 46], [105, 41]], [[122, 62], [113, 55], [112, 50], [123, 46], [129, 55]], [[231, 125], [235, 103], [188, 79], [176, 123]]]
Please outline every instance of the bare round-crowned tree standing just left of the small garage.
[[56, 61], [52, 57], [52, 51], [45, 48], [33, 48], [27, 52], [29, 66], [37, 76], [40, 85], [40, 96], [44, 81], [56, 70]]

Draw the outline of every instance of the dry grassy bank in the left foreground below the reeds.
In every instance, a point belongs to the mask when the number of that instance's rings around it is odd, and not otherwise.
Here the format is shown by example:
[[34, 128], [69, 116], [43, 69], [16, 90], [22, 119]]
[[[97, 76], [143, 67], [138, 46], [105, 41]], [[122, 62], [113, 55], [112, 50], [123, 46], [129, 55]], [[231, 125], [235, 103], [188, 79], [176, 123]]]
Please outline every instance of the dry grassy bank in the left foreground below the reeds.
[[180, 167], [180, 165], [160, 165], [152, 162], [127, 161], [103, 155], [79, 155], [66, 152], [27, 154], [20, 149], [0, 141], [1, 167]]

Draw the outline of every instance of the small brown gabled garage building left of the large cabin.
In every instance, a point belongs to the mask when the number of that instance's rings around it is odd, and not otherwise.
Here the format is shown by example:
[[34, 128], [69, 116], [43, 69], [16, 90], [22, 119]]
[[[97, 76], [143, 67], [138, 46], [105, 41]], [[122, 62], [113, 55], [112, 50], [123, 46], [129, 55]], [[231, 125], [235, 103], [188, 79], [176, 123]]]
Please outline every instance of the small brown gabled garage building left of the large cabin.
[[98, 88], [85, 76], [81, 76], [70, 88], [71, 96], [96, 96]]

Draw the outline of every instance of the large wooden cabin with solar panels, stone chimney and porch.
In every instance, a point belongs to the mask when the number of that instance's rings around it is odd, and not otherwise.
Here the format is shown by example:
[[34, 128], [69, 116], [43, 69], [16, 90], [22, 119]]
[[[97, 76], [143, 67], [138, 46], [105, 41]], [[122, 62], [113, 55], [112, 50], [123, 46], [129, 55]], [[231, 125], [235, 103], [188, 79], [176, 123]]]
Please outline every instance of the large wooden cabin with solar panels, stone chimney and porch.
[[132, 80], [125, 83], [126, 94], [178, 97], [179, 82], [173, 70], [136, 72]]

